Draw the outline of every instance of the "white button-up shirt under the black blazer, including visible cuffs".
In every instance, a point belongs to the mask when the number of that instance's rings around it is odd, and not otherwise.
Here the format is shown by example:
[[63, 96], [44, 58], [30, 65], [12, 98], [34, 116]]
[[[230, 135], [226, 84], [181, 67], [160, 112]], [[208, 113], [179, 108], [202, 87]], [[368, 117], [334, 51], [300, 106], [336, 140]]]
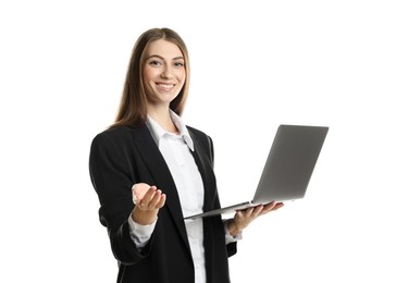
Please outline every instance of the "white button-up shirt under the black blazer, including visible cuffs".
[[[194, 143], [182, 119], [172, 111], [171, 118], [178, 130], [178, 134], [166, 132], [150, 116], [147, 119], [147, 126], [172, 173], [183, 214], [190, 216], [200, 213], [203, 208], [203, 183], [190, 152], [190, 150], [194, 151]], [[157, 221], [151, 225], [139, 225], [129, 217], [128, 223], [132, 239], [138, 248], [144, 247], [150, 239]], [[186, 220], [185, 225], [194, 260], [195, 282], [205, 283], [206, 268], [202, 219]], [[232, 237], [226, 229], [226, 223], [224, 225], [226, 243], [242, 238], [240, 235]]]

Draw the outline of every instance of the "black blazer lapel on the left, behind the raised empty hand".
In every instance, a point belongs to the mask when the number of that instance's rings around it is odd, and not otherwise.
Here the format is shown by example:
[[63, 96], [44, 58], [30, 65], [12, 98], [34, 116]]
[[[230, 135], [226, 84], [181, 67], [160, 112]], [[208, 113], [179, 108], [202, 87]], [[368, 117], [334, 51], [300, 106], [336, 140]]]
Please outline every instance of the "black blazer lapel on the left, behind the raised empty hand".
[[136, 147], [154, 181], [154, 184], [152, 185], [157, 185], [158, 188], [166, 195], [165, 207], [170, 210], [177, 230], [189, 249], [187, 231], [183, 220], [184, 217], [177, 188], [166, 162], [146, 125], [138, 128], [132, 128], [132, 132], [135, 137]]

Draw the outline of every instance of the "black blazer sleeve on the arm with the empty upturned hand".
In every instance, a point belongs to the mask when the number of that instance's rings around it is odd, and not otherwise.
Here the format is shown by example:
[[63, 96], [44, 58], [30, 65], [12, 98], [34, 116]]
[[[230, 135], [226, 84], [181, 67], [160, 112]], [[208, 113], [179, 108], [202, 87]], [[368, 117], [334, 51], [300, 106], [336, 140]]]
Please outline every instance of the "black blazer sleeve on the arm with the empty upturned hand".
[[97, 135], [90, 147], [89, 173], [100, 201], [99, 219], [108, 229], [113, 255], [124, 264], [134, 264], [145, 258], [148, 250], [139, 253], [129, 235], [131, 188], [136, 182], [126, 150], [106, 132]]

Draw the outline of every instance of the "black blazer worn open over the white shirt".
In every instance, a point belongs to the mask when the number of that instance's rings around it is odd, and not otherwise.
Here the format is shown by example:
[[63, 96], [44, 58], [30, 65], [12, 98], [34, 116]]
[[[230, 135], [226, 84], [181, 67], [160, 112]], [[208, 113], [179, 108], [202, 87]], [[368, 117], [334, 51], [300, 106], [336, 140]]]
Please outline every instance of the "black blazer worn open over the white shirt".
[[[205, 133], [188, 127], [191, 152], [205, 186], [203, 211], [220, 207], [213, 173], [213, 145]], [[98, 134], [91, 144], [89, 172], [100, 201], [100, 222], [107, 226], [119, 261], [117, 282], [194, 283], [194, 263], [177, 189], [146, 125], [119, 126]], [[131, 239], [127, 218], [134, 208], [131, 187], [156, 185], [166, 194], [149, 244], [139, 253]], [[236, 243], [225, 244], [221, 217], [203, 219], [207, 283], [227, 283], [228, 257]]]

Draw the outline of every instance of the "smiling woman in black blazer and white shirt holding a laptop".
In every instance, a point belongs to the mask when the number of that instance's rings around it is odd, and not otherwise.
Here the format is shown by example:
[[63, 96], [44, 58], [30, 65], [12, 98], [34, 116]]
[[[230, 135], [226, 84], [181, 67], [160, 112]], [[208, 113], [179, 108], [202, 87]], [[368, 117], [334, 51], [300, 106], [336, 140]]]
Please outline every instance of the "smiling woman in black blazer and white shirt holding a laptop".
[[189, 86], [182, 38], [152, 28], [136, 41], [115, 123], [91, 144], [89, 170], [119, 261], [117, 282], [225, 283], [242, 231], [283, 204], [185, 221], [220, 207], [212, 140], [181, 114]]

